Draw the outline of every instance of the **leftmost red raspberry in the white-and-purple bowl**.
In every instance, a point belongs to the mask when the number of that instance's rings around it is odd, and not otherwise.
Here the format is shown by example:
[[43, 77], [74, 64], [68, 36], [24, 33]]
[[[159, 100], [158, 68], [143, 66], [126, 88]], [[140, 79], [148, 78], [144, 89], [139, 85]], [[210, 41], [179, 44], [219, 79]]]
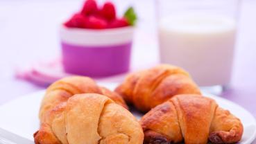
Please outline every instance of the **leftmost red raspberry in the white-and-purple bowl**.
[[69, 28], [85, 28], [87, 19], [81, 14], [75, 14], [71, 19], [65, 22], [65, 26]]

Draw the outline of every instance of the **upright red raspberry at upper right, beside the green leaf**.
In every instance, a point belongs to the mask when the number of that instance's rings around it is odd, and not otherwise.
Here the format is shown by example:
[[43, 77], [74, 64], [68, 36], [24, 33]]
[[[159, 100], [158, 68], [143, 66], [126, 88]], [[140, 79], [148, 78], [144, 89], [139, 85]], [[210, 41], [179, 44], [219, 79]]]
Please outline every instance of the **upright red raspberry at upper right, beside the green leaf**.
[[111, 21], [112, 19], [116, 18], [116, 10], [114, 8], [113, 3], [106, 2], [103, 5], [103, 8], [101, 9], [101, 15], [105, 17], [105, 19], [108, 19]]

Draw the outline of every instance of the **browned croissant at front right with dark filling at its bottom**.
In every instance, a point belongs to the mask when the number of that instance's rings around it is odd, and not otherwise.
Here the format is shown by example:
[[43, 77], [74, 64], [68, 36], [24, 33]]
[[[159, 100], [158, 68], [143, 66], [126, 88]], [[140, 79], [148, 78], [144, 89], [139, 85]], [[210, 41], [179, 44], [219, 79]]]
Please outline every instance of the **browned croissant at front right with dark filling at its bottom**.
[[178, 95], [148, 111], [140, 120], [144, 144], [236, 143], [243, 125], [211, 98]]

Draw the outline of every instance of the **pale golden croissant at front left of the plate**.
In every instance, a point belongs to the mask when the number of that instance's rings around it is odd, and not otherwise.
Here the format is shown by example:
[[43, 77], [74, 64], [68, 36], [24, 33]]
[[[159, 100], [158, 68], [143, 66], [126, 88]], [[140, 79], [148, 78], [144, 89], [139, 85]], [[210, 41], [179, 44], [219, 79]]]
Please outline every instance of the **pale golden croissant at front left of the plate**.
[[130, 111], [110, 98], [77, 94], [51, 109], [36, 144], [142, 144], [144, 134]]

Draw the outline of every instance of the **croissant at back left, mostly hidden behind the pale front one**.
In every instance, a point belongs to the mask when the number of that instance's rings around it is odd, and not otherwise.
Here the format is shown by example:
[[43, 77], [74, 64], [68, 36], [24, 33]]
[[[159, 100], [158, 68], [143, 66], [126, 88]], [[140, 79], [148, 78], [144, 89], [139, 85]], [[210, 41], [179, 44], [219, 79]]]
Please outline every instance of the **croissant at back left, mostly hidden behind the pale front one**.
[[[69, 100], [72, 96], [78, 93], [99, 93], [104, 96], [108, 96], [116, 102], [117, 104], [128, 109], [123, 98], [119, 94], [110, 91], [104, 87], [99, 87], [94, 80], [82, 76], [73, 76], [68, 78], [62, 78], [57, 82], [51, 84], [51, 86], [46, 90], [45, 96], [42, 100], [40, 107], [40, 130], [43, 130], [43, 133], [37, 132], [35, 134], [35, 142], [40, 144], [52, 144], [53, 138], [56, 136], [51, 133], [51, 127], [46, 123], [49, 121], [49, 112], [55, 111], [56, 113], [64, 107], [65, 102]], [[53, 113], [53, 112], [51, 112]], [[64, 132], [64, 131], [62, 131]], [[40, 134], [40, 135], [38, 135]], [[43, 142], [42, 142], [43, 141]], [[47, 142], [48, 141], [48, 142]], [[57, 143], [57, 142], [56, 142]]]

